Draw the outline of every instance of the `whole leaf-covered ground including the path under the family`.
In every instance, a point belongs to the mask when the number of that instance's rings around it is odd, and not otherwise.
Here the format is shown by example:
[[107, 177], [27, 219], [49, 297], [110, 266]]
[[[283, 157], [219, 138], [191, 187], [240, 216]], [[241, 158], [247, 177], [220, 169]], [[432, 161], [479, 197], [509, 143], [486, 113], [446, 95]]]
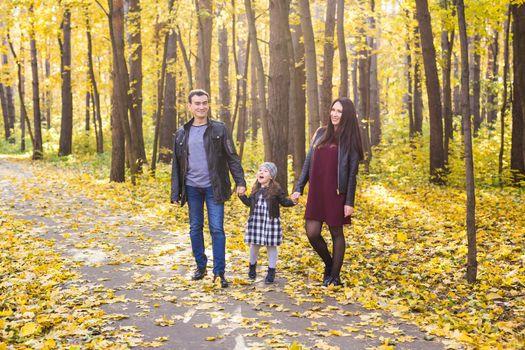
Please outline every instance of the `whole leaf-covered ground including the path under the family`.
[[[462, 349], [523, 344], [523, 294], [515, 290], [523, 290], [524, 257], [515, 250], [519, 247], [510, 246], [523, 241], [507, 238], [506, 288], [480, 283], [481, 290], [469, 290], [460, 281], [462, 272], [455, 270], [463, 261], [444, 258], [444, 251], [464, 255], [466, 248], [455, 242], [464, 239], [454, 236], [448, 247], [440, 248], [431, 238], [436, 231], [455, 231], [456, 223], [433, 218], [460, 210], [459, 204], [421, 209], [415, 218], [425, 223], [415, 237], [410, 230], [414, 217], [389, 216], [392, 208], [408, 215], [403, 206], [415, 203], [400, 205], [400, 194], [367, 183], [367, 194], [358, 194], [363, 196], [362, 216], [356, 216], [347, 237], [345, 287], [334, 289], [320, 284], [321, 268], [303, 234], [301, 206], [283, 215], [285, 240], [276, 283], [263, 282], [264, 256], [257, 280], [250, 282], [242, 242], [247, 211], [234, 198], [225, 214], [227, 277], [232, 283], [221, 289], [212, 283], [211, 267], [203, 281], [189, 279], [194, 261], [187, 208], [169, 203], [168, 172], [140, 181], [136, 187], [108, 183], [89, 166], [0, 156], [0, 349]], [[430, 192], [414, 197], [425, 201]], [[371, 197], [380, 200], [373, 204]], [[521, 195], [513, 198], [519, 207]], [[365, 215], [366, 226], [359, 223]], [[523, 237], [522, 222], [509, 220], [516, 225], [513, 234]], [[206, 229], [205, 236], [211, 258]], [[413, 271], [427, 262], [435, 266]], [[483, 266], [481, 270], [486, 279]], [[477, 304], [479, 295], [490, 305]], [[482, 307], [490, 315], [498, 312], [499, 319], [490, 319]], [[458, 321], [462, 319], [464, 324]]]

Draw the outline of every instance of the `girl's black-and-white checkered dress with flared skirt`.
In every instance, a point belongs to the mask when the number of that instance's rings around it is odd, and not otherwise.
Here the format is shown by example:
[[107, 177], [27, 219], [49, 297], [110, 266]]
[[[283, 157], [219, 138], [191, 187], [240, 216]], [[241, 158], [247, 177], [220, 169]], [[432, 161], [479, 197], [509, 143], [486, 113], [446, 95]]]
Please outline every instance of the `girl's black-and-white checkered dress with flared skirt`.
[[283, 240], [283, 230], [279, 218], [270, 219], [268, 203], [260, 194], [253, 214], [248, 218], [244, 241], [248, 244], [278, 246]]

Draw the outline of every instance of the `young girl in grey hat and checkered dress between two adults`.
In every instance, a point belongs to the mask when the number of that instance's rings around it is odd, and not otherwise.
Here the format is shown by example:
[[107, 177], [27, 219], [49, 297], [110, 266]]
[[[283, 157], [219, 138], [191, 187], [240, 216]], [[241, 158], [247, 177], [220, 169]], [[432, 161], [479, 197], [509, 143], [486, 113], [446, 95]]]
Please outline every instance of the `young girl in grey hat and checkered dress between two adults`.
[[253, 185], [250, 197], [239, 196], [241, 201], [250, 207], [250, 217], [246, 224], [244, 241], [250, 244], [250, 269], [248, 277], [252, 280], [257, 276], [257, 257], [261, 246], [268, 249], [268, 274], [265, 283], [273, 283], [277, 265], [277, 246], [283, 239], [279, 205], [291, 207], [297, 204], [286, 198], [281, 186], [274, 180], [277, 167], [274, 163], [265, 162], [257, 171], [257, 179]]

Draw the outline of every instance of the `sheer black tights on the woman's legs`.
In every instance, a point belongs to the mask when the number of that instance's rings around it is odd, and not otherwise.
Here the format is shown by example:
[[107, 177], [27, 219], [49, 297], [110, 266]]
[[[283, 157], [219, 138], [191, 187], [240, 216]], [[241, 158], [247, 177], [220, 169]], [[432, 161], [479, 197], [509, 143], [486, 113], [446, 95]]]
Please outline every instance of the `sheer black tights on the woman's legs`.
[[323, 259], [324, 264], [328, 269], [331, 268], [331, 277], [339, 277], [341, 267], [343, 266], [343, 259], [345, 257], [345, 236], [343, 235], [343, 226], [328, 226], [330, 234], [332, 235], [332, 256], [328, 251], [326, 241], [321, 235], [323, 223], [321, 221], [306, 220], [306, 235], [310, 244], [315, 249], [317, 254]]

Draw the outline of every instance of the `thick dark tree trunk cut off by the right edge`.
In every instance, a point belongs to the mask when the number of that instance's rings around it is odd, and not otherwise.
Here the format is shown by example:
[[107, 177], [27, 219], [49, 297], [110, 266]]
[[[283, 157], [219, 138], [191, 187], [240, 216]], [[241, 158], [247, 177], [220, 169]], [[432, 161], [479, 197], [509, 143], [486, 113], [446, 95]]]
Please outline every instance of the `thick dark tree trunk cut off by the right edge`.
[[512, 146], [510, 168], [514, 181], [525, 180], [525, 5], [512, 7], [514, 98], [512, 105]]

